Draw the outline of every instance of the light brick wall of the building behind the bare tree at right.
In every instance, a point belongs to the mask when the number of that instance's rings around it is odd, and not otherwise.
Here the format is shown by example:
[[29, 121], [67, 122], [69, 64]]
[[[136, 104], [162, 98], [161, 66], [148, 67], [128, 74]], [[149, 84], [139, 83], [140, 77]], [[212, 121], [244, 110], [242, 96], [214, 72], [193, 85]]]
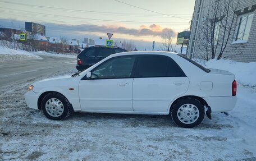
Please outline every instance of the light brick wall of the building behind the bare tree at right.
[[[202, 1], [200, 3], [200, 1]], [[225, 0], [220, 0], [220, 3], [223, 3]], [[195, 1], [195, 9], [193, 13], [193, 20], [191, 24], [191, 36], [190, 36], [190, 43], [188, 49], [188, 57], [193, 58], [200, 58], [205, 55], [205, 53], [200, 50], [200, 34], [202, 34], [203, 30], [203, 19], [205, 15], [208, 13], [208, 8], [211, 6], [212, 3], [216, 1], [213, 0], [196, 0]], [[227, 42], [227, 47], [225, 52], [223, 53], [223, 58], [234, 59], [235, 61], [240, 62], [252, 62], [256, 61], [256, 1], [255, 0], [246, 0], [246, 1], [239, 1], [239, 0], [232, 0], [234, 4], [239, 2], [237, 8], [237, 15], [235, 17], [235, 26], [237, 25], [237, 19], [239, 15], [243, 15], [244, 13], [250, 11], [254, 13], [252, 26], [250, 27], [250, 33], [247, 43], [236, 43], [234, 44], [234, 36], [236, 35], [235, 27], [232, 28], [230, 38]], [[201, 4], [201, 5], [200, 5]], [[230, 11], [232, 12], [232, 11]], [[228, 17], [228, 22], [231, 21], [231, 17]], [[196, 25], [197, 24], [197, 25]], [[220, 33], [219, 36], [222, 33]], [[219, 49], [217, 48], [217, 53]]]

